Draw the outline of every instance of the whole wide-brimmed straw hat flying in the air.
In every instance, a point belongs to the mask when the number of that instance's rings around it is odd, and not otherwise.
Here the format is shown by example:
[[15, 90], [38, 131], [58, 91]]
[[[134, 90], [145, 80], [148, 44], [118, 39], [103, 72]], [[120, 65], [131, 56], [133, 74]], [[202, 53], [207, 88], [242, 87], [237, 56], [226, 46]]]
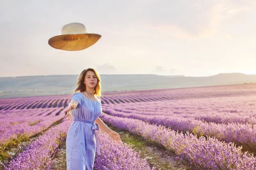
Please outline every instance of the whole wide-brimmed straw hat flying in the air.
[[62, 28], [61, 35], [49, 39], [48, 44], [56, 49], [79, 51], [90, 47], [101, 35], [88, 34], [84, 24], [70, 23]]

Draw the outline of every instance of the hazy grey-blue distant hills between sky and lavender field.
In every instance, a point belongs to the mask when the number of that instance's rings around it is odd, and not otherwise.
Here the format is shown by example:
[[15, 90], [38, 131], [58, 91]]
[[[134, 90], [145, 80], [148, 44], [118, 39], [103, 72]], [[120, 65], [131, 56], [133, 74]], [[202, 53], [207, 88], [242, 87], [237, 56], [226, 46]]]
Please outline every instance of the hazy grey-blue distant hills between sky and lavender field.
[[[73, 94], [79, 75], [0, 77], [0, 98]], [[102, 92], [256, 83], [256, 74], [221, 73], [208, 77], [156, 74], [102, 74]]]

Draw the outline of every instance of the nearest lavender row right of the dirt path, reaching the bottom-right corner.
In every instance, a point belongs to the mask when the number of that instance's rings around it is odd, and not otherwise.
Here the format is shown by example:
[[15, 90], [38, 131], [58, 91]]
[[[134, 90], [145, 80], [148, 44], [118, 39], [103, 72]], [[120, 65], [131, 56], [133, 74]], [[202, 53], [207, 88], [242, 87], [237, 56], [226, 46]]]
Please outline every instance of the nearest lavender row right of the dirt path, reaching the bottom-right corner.
[[145, 139], [162, 144], [166, 150], [173, 151], [181, 161], [193, 169], [202, 170], [255, 170], [256, 159], [247, 156], [233, 143], [220, 142], [218, 139], [175, 132], [162, 125], [150, 125], [138, 119], [111, 116], [105, 113], [101, 118], [120, 129], [137, 133]]

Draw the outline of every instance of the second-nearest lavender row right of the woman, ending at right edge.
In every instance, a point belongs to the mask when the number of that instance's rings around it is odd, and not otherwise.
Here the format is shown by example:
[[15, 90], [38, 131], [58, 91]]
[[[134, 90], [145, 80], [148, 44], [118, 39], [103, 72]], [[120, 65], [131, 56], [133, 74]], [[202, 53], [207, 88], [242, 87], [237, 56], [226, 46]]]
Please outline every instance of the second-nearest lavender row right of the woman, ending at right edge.
[[131, 110], [131, 113], [116, 111], [115, 108], [111, 109], [111, 106], [107, 109], [102, 107], [102, 110], [112, 116], [140, 119], [145, 122], [164, 125], [177, 131], [189, 131], [198, 136], [215, 136], [217, 139], [225, 142], [235, 142], [236, 144], [244, 145], [246, 150], [253, 151], [256, 148], [256, 124], [228, 123], [226, 125], [223, 123], [203, 122], [202, 120], [196, 120], [191, 117], [164, 116], [159, 113], [155, 115], [145, 115], [143, 111], [138, 111], [139, 107], [140, 106], [138, 106], [137, 112], [135, 111], [135, 113], [132, 112], [134, 110]]

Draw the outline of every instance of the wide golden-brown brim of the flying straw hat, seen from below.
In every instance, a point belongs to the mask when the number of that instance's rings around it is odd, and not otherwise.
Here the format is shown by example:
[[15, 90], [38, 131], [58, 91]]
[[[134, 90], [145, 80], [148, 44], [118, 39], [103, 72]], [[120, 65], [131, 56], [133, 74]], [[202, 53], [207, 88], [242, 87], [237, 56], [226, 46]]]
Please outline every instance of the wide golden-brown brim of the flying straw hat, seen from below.
[[52, 48], [79, 51], [90, 47], [100, 39], [99, 34], [66, 34], [58, 35], [49, 39], [48, 44]]

